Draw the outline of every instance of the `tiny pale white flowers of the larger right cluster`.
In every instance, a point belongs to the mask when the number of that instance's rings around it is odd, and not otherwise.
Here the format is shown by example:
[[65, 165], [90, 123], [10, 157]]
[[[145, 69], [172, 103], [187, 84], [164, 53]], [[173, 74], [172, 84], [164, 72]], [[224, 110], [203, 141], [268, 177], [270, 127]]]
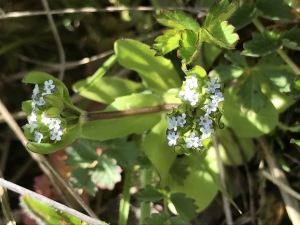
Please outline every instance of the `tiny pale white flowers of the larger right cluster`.
[[[184, 89], [179, 92], [179, 96], [183, 101], [188, 102], [194, 109], [197, 107], [197, 103], [201, 103], [200, 95], [201, 90], [198, 87], [198, 79], [196, 75], [188, 77], [186, 79]], [[178, 139], [183, 137], [186, 148], [198, 148], [203, 146], [202, 140], [209, 138], [213, 134], [213, 120], [210, 114], [216, 112], [218, 104], [224, 101], [224, 97], [220, 91], [220, 84], [217, 84], [215, 79], [211, 79], [206, 82], [205, 95], [209, 96], [206, 97], [206, 100], [202, 101], [202, 103], [204, 103], [203, 108], [205, 114], [202, 114], [198, 118], [189, 118], [189, 121], [193, 121], [192, 125], [188, 126], [187, 124], [187, 112], [178, 116], [167, 118], [169, 123], [167, 134], [169, 146], [178, 145]], [[175, 115], [177, 114], [178, 113], [175, 113]], [[190, 115], [189, 113], [187, 114]], [[197, 121], [196, 124], [194, 124], [194, 121]], [[181, 129], [184, 127], [185, 129]]]

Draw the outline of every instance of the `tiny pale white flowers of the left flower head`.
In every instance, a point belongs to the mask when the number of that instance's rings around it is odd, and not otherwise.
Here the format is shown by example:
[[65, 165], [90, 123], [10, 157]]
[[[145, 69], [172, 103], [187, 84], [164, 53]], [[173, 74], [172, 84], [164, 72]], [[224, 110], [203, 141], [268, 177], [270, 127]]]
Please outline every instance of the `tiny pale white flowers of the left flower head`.
[[44, 138], [45, 132], [41, 132], [42, 127], [47, 127], [50, 140], [60, 141], [61, 136], [63, 135], [63, 129], [61, 127], [62, 121], [58, 118], [46, 117], [39, 109], [39, 107], [46, 105], [44, 96], [52, 94], [55, 91], [56, 89], [53, 80], [45, 81], [42, 88], [36, 84], [33, 89], [31, 103], [32, 112], [25, 127], [29, 129], [30, 133], [33, 133], [35, 142], [41, 143]]

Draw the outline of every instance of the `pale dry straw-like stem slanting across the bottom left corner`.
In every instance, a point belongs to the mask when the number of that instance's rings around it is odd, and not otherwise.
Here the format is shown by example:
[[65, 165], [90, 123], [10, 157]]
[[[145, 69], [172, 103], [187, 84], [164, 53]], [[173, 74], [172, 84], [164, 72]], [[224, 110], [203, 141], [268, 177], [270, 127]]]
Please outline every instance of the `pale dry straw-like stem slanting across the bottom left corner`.
[[3, 178], [0, 178], [0, 185], [4, 186], [5, 188], [7, 188], [11, 191], [19, 193], [20, 195], [29, 196], [30, 198], [33, 198], [33, 199], [35, 199], [39, 202], [42, 202], [42, 203], [44, 203], [44, 204], [46, 204], [50, 207], [53, 207], [53, 208], [58, 209], [62, 212], [65, 212], [65, 213], [68, 213], [72, 216], [75, 216], [75, 217], [79, 218], [80, 220], [85, 221], [87, 223], [95, 224], [95, 225], [107, 225], [107, 223], [105, 223], [105, 222], [102, 222], [102, 221], [99, 221], [97, 219], [91, 218], [91, 217], [89, 217], [89, 216], [87, 216], [87, 215], [85, 215], [81, 212], [78, 212], [78, 211], [76, 211], [72, 208], [69, 208], [69, 207], [67, 207], [63, 204], [60, 204], [56, 201], [53, 201], [49, 198], [46, 198], [45, 196], [42, 196], [42, 195], [37, 194], [33, 191], [30, 191], [26, 188], [23, 188], [19, 185], [16, 185], [16, 184], [11, 183], [7, 180], [4, 180]]

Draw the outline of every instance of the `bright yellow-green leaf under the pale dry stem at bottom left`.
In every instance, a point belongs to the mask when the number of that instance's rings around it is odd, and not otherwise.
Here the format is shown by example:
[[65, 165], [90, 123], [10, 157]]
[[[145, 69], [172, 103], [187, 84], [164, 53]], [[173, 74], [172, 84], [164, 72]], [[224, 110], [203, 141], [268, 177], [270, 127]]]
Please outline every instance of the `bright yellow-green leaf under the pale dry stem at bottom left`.
[[46, 225], [52, 225], [52, 224], [87, 225], [88, 224], [74, 216], [56, 210], [51, 206], [48, 206], [28, 196], [21, 196], [20, 203], [25, 213], [27, 213], [29, 217], [34, 219], [38, 224], [46, 224]]

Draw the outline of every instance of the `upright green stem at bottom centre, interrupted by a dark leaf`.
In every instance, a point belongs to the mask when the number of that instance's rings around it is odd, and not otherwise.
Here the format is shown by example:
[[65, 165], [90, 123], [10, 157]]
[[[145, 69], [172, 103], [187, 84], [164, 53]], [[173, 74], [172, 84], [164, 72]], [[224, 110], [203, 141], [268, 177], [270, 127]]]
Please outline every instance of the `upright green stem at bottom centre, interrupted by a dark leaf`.
[[[145, 188], [147, 184], [151, 184], [152, 168], [143, 169], [141, 172], [141, 188]], [[150, 203], [141, 203], [140, 225], [144, 224], [144, 219], [150, 216]]]

